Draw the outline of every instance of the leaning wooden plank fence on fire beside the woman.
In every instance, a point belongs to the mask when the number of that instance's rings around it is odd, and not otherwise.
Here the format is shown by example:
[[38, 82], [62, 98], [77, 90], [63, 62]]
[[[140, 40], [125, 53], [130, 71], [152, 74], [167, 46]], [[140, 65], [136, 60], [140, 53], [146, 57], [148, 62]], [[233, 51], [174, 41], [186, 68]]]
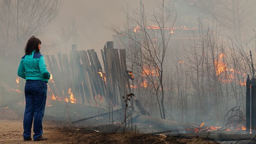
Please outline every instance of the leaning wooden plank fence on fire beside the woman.
[[58, 54], [57, 58], [47, 55], [50, 99], [89, 105], [108, 101], [119, 104], [121, 96], [130, 91], [125, 50], [113, 49], [113, 42], [107, 42], [101, 55], [105, 72], [93, 49], [73, 49], [69, 56]]

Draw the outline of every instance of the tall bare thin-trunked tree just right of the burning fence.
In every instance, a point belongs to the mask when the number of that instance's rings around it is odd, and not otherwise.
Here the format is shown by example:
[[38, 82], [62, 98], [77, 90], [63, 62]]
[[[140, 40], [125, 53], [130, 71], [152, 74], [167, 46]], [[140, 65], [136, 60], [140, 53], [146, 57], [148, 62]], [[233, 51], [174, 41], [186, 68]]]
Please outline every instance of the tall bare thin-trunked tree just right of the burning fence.
[[[150, 92], [154, 92], [156, 96], [161, 118], [165, 119], [165, 60], [176, 14], [172, 16], [170, 10], [165, 9], [165, 1], [161, 0], [152, 15], [145, 13], [144, 6], [141, 12], [134, 11], [134, 16], [127, 15], [129, 24], [135, 27], [134, 31], [130, 31], [127, 25], [124, 25], [126, 31], [116, 25], [111, 25], [109, 30], [117, 34], [130, 54], [129, 61], [135, 65], [133, 70], [142, 76], [142, 82], [137, 86], [151, 86], [153, 91]], [[147, 16], [150, 21], [147, 21]], [[154, 25], [148, 26], [148, 23]]]

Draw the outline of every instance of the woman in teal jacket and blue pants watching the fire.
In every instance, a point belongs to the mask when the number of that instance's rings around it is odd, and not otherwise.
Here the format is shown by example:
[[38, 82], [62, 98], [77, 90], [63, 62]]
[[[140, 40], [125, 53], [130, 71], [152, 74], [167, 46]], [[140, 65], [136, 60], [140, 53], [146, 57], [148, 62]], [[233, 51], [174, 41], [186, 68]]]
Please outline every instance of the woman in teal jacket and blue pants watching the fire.
[[23, 120], [24, 141], [31, 140], [33, 125], [33, 140], [47, 140], [43, 137], [43, 116], [46, 103], [47, 84], [50, 74], [45, 65], [45, 58], [40, 54], [41, 41], [32, 36], [25, 47], [25, 55], [20, 60], [18, 76], [26, 79], [25, 98], [26, 109]]

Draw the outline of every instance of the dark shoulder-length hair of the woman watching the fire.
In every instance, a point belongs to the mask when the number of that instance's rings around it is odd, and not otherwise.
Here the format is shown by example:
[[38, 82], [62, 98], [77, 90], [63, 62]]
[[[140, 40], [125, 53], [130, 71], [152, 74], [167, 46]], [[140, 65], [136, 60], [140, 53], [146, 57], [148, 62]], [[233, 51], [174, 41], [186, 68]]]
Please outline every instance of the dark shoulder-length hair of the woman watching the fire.
[[35, 38], [35, 36], [32, 36], [25, 47], [25, 55], [32, 54], [33, 50], [36, 52], [39, 52], [38, 45], [41, 44], [41, 41], [38, 38]]

